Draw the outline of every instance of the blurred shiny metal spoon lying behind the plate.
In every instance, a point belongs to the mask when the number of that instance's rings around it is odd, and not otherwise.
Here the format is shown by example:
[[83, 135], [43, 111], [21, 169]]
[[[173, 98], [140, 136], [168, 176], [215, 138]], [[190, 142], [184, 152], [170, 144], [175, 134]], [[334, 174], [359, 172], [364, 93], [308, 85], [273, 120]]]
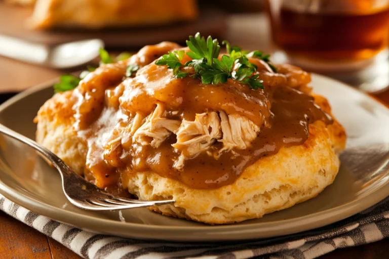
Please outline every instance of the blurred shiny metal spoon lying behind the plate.
[[0, 34], [0, 55], [52, 68], [71, 68], [88, 63], [99, 56], [99, 49], [103, 47], [101, 39], [47, 46]]

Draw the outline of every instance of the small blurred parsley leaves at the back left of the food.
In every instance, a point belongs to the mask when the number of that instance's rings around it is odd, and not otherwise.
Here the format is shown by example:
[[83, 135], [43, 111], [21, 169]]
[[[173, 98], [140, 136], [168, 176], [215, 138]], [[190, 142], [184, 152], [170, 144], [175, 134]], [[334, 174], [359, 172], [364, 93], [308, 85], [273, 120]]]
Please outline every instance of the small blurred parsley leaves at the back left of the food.
[[[109, 55], [109, 53], [104, 50], [103, 48], [100, 48], [99, 50], [100, 54], [100, 65], [102, 64], [110, 64], [113, 62], [118, 62], [122, 60], [126, 60], [131, 57], [131, 54], [128, 52], [123, 52], [119, 54], [118, 56], [114, 57], [112, 55]], [[182, 54], [182, 56], [184, 53]], [[80, 81], [84, 79], [90, 72], [93, 72], [96, 70], [97, 67], [94, 66], [87, 66], [87, 70], [84, 70], [81, 72], [80, 77], [76, 77], [74, 75], [61, 75], [59, 77], [60, 82], [54, 84], [54, 93], [60, 93], [72, 90], [77, 87], [77, 85], [80, 84]], [[139, 69], [138, 64], [130, 64], [128, 65], [126, 69], [126, 77], [130, 77], [133, 75], [134, 72], [136, 72]]]

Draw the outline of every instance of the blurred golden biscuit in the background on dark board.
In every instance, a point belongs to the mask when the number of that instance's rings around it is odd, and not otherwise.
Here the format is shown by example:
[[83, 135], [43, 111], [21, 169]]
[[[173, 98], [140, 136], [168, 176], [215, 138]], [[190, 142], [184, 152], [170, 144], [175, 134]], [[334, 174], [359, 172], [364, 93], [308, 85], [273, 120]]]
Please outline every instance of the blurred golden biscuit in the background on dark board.
[[30, 26], [103, 28], [159, 25], [197, 17], [195, 0], [37, 0]]

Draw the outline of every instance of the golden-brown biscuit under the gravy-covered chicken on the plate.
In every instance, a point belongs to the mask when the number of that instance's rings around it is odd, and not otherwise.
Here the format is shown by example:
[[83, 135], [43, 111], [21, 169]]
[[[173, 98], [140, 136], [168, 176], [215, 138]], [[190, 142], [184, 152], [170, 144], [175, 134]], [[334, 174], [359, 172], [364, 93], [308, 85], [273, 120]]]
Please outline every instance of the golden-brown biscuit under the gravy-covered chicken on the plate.
[[[77, 140], [67, 121], [47, 118], [38, 119], [38, 143], [81, 174], [86, 145]], [[140, 199], [176, 200], [175, 204], [151, 207], [154, 211], [208, 224], [235, 223], [261, 218], [318, 195], [334, 181], [339, 169], [338, 152], [344, 149], [344, 143], [345, 133], [337, 122], [327, 127], [316, 122], [309, 126], [309, 138], [303, 145], [283, 148], [276, 155], [261, 158], [234, 184], [215, 190], [188, 188], [154, 172], [128, 174], [124, 179], [129, 192]]]

